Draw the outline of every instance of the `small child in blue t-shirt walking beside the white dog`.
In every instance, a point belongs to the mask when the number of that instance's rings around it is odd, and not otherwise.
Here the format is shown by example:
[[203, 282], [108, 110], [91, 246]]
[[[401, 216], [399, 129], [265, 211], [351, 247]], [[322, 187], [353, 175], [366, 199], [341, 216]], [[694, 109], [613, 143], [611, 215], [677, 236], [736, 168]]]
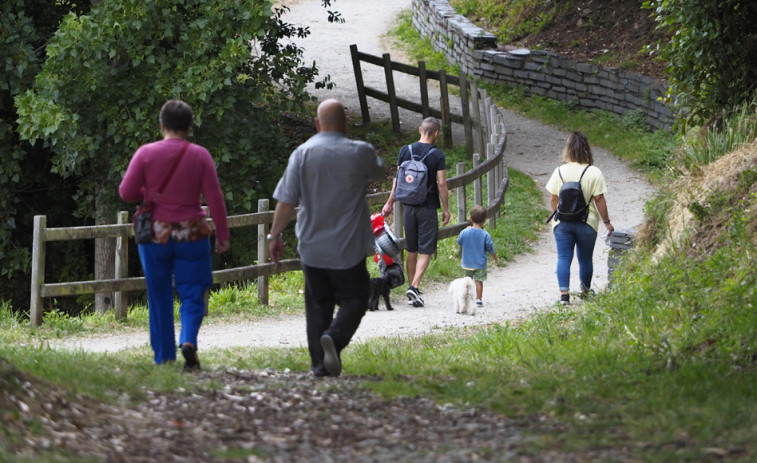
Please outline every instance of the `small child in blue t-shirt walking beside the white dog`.
[[486, 223], [486, 209], [482, 206], [473, 206], [470, 212], [472, 226], [460, 232], [457, 244], [462, 247], [463, 273], [473, 278], [476, 282], [476, 306], [483, 306], [481, 296], [484, 292], [486, 281], [487, 254], [491, 254], [492, 260], [497, 262], [497, 254], [494, 252], [494, 241], [488, 231], [484, 230]]

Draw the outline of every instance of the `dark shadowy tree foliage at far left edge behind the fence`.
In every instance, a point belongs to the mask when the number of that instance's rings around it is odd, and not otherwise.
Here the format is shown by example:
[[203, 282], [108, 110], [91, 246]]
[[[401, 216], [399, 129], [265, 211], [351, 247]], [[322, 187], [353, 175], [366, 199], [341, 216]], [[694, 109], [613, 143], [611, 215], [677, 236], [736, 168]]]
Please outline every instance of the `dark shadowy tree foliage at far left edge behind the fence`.
[[[19, 139], [18, 114], [13, 99], [31, 88], [40, 71], [47, 40], [70, 11], [84, 13], [88, 1], [6, 0], [0, 3], [0, 285], [3, 298], [20, 299], [28, 293], [25, 278], [30, 259], [32, 217], [48, 214], [55, 223], [72, 224], [66, 199], [74, 187], [70, 180], [50, 172], [50, 152], [41, 144]], [[62, 202], [61, 202], [61, 199]], [[61, 207], [51, 209], [50, 204]], [[64, 253], [76, 253], [67, 246]], [[65, 259], [51, 265], [65, 273]], [[68, 269], [68, 270], [67, 270]]]

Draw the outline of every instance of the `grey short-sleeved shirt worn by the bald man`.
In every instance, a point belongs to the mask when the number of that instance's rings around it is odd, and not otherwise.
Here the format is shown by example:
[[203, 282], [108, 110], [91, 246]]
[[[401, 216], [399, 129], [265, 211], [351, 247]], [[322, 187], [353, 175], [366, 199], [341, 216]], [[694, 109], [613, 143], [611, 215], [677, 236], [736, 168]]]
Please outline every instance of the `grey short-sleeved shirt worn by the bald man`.
[[302, 263], [345, 269], [372, 253], [365, 196], [368, 181], [383, 173], [372, 145], [341, 132], [320, 132], [292, 152], [273, 197], [300, 207], [295, 231]]

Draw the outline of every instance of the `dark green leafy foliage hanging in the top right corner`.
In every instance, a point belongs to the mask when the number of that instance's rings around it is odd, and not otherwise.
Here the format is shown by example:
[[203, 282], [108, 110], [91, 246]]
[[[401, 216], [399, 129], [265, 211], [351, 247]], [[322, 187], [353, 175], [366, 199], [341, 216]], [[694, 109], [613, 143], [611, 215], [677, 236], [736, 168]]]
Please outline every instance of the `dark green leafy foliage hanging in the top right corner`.
[[757, 3], [751, 0], [653, 0], [668, 43], [648, 46], [668, 63], [668, 100], [690, 123], [709, 121], [753, 97], [757, 82]]

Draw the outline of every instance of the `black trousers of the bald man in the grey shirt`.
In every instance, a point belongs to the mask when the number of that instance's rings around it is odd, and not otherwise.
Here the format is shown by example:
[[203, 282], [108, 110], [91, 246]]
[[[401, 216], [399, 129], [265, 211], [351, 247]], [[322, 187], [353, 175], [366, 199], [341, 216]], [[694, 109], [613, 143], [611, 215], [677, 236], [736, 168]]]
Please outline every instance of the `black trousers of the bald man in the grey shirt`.
[[[305, 321], [311, 369], [323, 374], [321, 336], [328, 333], [337, 352], [347, 347], [368, 308], [370, 276], [365, 260], [347, 269], [302, 265], [305, 275]], [[339, 310], [334, 317], [334, 307]]]

